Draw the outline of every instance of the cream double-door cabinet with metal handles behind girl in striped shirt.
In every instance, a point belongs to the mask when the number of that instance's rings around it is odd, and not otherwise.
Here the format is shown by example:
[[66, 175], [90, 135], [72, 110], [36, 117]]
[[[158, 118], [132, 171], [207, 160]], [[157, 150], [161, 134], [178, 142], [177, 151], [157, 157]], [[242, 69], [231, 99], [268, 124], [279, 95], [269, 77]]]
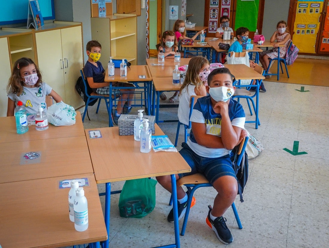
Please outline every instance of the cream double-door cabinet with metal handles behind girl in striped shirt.
[[56, 91], [63, 101], [75, 109], [85, 103], [75, 90], [83, 68], [82, 26], [76, 22], [45, 24], [35, 31], [38, 65], [43, 81]]

